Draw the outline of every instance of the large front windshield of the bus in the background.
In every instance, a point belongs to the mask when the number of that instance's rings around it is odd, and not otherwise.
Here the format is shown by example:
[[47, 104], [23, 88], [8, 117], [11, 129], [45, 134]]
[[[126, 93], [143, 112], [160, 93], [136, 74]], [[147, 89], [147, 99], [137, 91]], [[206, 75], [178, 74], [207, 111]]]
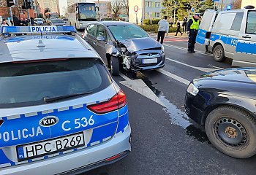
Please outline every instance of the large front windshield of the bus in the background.
[[93, 3], [78, 4], [78, 12], [80, 20], [96, 20], [95, 4]]

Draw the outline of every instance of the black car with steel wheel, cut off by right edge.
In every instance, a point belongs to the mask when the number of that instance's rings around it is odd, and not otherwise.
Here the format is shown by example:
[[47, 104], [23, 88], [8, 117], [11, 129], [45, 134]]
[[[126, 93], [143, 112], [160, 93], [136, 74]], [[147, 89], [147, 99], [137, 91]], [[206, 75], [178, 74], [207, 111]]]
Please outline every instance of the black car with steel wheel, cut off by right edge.
[[185, 110], [211, 144], [233, 158], [256, 153], [256, 69], [203, 74], [187, 88]]

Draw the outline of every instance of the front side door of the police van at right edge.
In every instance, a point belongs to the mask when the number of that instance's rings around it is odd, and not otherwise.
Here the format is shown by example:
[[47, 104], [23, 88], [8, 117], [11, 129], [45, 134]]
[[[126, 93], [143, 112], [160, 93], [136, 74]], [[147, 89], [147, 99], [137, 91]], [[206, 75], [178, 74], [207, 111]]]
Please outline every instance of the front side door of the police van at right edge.
[[233, 58], [234, 66], [256, 66], [256, 11], [248, 10], [245, 15]]

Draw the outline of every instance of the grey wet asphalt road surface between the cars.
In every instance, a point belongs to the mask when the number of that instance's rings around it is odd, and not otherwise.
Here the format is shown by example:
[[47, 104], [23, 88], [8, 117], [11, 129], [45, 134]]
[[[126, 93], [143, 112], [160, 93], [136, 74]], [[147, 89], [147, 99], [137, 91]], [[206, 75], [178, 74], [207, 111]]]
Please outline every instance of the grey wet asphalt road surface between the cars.
[[[166, 39], [168, 59], [163, 69], [114, 77], [127, 94], [132, 152], [117, 163], [86, 174], [255, 174], [256, 156], [238, 160], [223, 155], [212, 147], [203, 128], [184, 113], [188, 82], [207, 71], [230, 68], [230, 61], [215, 62], [202, 46], [188, 54], [186, 38]], [[121, 82], [126, 79], [130, 83], [142, 79], [162, 105], [124, 86]]]

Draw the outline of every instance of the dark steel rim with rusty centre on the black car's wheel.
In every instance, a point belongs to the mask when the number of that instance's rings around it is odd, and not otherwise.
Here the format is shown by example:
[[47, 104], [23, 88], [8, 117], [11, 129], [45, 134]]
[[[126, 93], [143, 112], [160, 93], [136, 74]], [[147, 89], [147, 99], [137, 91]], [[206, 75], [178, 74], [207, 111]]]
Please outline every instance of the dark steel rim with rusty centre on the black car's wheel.
[[218, 120], [215, 131], [218, 138], [231, 147], [241, 146], [247, 141], [247, 133], [244, 126], [234, 119], [224, 117]]

